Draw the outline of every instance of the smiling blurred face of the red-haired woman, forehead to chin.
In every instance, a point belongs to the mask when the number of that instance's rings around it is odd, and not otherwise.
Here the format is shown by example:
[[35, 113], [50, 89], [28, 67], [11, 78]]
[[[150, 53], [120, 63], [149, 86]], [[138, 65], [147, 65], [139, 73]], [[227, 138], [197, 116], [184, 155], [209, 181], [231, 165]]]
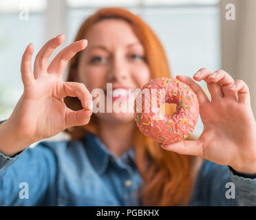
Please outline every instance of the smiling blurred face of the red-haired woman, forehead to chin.
[[[77, 81], [84, 83], [90, 92], [96, 88], [105, 91], [105, 112], [107, 103], [111, 107], [113, 104], [112, 113], [95, 113], [96, 116], [113, 123], [133, 120], [134, 114], [126, 111], [128, 106], [133, 105], [131, 96], [134, 94], [129, 90], [141, 88], [150, 79], [144, 47], [129, 23], [120, 19], [99, 21], [90, 28], [85, 39], [88, 46], [79, 58]], [[116, 89], [124, 89], [122, 94], [118, 97], [107, 96], [107, 83], [111, 83], [114, 94]], [[107, 102], [109, 100], [112, 104]], [[116, 113], [114, 102], [125, 112]], [[127, 103], [127, 106], [120, 102]]]

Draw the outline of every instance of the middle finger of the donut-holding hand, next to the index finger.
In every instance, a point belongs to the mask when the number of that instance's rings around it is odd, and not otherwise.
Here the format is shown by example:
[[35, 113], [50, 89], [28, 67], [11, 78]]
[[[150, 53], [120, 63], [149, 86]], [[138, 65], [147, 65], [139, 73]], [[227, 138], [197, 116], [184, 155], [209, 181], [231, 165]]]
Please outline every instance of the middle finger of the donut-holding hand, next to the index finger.
[[211, 94], [211, 100], [215, 100], [217, 98], [222, 98], [224, 94], [220, 83], [215, 83], [209, 80], [209, 76], [212, 74], [213, 72], [211, 72], [211, 70], [202, 68], [197, 73], [195, 73], [193, 78], [197, 81], [204, 80], [207, 83], [207, 88]]

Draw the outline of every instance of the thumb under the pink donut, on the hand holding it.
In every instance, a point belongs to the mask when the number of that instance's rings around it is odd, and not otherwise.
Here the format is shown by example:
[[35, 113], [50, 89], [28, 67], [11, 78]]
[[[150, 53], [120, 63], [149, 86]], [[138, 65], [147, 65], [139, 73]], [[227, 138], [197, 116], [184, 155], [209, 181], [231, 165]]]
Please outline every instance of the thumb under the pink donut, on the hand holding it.
[[202, 144], [200, 144], [198, 140], [184, 140], [173, 144], [162, 144], [161, 147], [167, 151], [173, 151], [175, 153], [203, 157]]

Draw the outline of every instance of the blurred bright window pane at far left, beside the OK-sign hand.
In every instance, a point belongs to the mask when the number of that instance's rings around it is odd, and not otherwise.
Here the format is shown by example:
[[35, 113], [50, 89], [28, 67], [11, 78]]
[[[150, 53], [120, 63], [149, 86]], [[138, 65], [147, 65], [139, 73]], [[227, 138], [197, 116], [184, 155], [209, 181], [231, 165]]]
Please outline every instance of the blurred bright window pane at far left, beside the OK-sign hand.
[[23, 92], [20, 64], [25, 47], [32, 42], [39, 48], [44, 41], [46, 3], [0, 0], [0, 120], [10, 117]]

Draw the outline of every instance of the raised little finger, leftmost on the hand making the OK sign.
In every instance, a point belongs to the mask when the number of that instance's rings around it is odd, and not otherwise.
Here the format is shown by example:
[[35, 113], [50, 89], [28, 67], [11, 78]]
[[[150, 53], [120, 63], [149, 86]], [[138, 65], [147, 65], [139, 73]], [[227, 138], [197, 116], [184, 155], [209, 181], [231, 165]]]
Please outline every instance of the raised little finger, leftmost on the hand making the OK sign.
[[34, 52], [34, 46], [32, 43], [28, 45], [21, 59], [21, 79], [24, 87], [32, 85], [34, 82], [34, 76], [32, 72], [32, 56]]

